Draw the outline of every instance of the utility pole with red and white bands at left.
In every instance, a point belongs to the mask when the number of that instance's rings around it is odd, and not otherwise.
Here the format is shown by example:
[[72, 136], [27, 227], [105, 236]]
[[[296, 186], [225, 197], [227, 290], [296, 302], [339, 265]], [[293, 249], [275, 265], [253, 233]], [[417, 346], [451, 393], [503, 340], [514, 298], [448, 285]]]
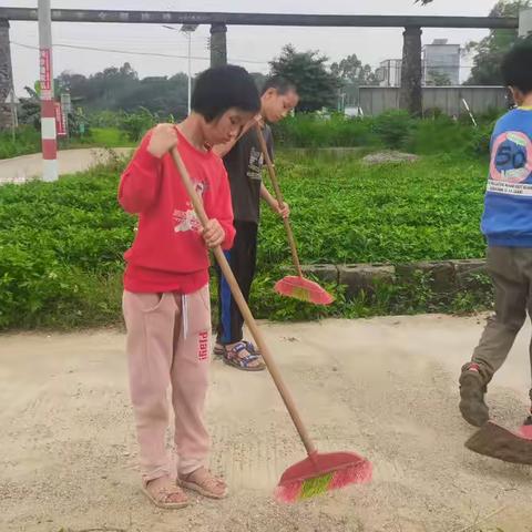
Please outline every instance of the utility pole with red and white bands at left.
[[39, 63], [41, 80], [42, 178], [58, 180], [58, 141], [53, 103], [52, 12], [50, 0], [39, 0]]

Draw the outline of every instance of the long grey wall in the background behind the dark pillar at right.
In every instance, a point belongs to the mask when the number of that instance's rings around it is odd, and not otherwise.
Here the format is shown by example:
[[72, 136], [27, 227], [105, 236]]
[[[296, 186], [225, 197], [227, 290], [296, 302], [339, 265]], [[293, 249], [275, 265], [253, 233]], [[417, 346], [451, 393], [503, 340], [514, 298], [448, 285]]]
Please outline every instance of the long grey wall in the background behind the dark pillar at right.
[[[360, 106], [365, 115], [377, 115], [390, 109], [400, 109], [400, 90], [393, 86], [360, 88]], [[441, 109], [446, 114], [458, 115], [466, 112], [462, 98], [473, 114], [491, 108], [507, 109], [507, 90], [502, 86], [424, 86], [423, 111]]]

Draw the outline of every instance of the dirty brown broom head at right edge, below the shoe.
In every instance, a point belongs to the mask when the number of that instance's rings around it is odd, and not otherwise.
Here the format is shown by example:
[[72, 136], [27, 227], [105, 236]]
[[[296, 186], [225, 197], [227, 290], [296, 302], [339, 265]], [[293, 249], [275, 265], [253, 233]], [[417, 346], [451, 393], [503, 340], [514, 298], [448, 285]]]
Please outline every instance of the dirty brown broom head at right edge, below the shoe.
[[523, 426], [514, 432], [488, 421], [466, 442], [466, 447], [485, 457], [532, 466], [532, 426]]

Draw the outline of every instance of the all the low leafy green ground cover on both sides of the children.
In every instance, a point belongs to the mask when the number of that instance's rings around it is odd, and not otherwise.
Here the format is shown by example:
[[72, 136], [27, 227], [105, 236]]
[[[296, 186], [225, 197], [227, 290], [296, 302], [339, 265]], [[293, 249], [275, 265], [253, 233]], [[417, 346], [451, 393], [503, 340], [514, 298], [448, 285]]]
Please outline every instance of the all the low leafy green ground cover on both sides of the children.
[[[121, 319], [122, 255], [135, 225], [116, 203], [123, 165], [116, 160], [52, 184], [0, 187], [0, 328], [88, 327]], [[366, 166], [356, 157], [280, 153], [277, 171], [304, 263], [397, 264], [484, 253], [479, 219], [485, 167], [480, 161], [430, 156], [416, 164]], [[468, 311], [488, 303], [484, 293], [439, 299], [419, 278], [416, 286], [382, 286], [371, 298], [351, 301], [341, 287], [327, 286], [337, 303], [314, 307], [273, 291], [289, 262], [283, 225], [264, 211], [252, 296], [257, 317]]]

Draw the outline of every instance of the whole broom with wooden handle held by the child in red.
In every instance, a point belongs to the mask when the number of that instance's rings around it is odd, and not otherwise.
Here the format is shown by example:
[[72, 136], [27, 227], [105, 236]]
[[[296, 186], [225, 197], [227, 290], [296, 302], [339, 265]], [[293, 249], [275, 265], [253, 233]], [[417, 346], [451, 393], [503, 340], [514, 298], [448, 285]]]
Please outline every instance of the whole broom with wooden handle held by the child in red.
[[[191, 176], [188, 175], [186, 166], [176, 149], [172, 150], [172, 157], [181, 174], [181, 178], [192, 204], [194, 205], [194, 211], [196, 212], [202, 226], [205, 227], [208, 223], [208, 218], [203, 208], [203, 203], [194, 188]], [[320, 453], [317, 451], [303, 423], [294, 398], [291, 397], [291, 393], [275, 364], [274, 357], [264, 340], [260, 329], [242, 295], [238, 283], [225, 258], [224, 252], [219, 246], [216, 246], [213, 252], [218, 262], [219, 268], [229, 285], [233, 298], [238, 305], [238, 309], [260, 349], [266, 367], [274, 379], [275, 386], [277, 387], [288, 413], [296, 426], [297, 432], [301, 438], [305, 449], [307, 450], [308, 457], [305, 460], [291, 466], [284, 472], [275, 490], [276, 499], [282, 502], [296, 502], [301, 499], [318, 495], [326, 491], [344, 488], [348, 484], [369, 482], [371, 480], [371, 463], [359, 454], [354, 452]]]

